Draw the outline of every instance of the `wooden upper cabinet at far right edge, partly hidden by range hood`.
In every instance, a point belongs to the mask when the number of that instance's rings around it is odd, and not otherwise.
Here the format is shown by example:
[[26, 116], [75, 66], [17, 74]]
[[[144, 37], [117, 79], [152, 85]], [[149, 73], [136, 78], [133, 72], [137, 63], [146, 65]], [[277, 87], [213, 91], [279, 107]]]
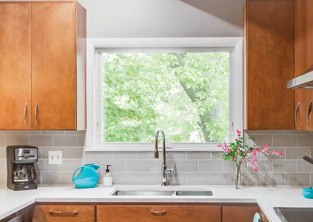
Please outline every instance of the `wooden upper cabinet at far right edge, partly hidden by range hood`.
[[[313, 65], [312, 7], [313, 1], [295, 0], [295, 77], [311, 70]], [[313, 131], [313, 114], [310, 109], [312, 99], [313, 90], [295, 90], [296, 130]]]

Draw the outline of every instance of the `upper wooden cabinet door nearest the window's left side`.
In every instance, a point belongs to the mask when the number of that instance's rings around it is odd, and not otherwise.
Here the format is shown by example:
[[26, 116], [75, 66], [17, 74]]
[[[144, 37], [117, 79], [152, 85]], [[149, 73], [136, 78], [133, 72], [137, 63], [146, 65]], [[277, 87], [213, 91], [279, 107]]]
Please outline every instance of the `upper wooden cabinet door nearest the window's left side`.
[[32, 3], [33, 130], [76, 129], [75, 3]]

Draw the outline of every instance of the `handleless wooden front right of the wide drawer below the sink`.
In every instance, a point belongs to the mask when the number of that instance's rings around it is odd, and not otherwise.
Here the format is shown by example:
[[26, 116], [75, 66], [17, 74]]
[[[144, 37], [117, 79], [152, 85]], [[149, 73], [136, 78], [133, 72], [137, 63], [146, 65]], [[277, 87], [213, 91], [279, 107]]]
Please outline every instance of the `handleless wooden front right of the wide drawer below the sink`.
[[259, 207], [231, 207], [223, 206], [222, 222], [251, 222], [254, 214], [259, 212]]

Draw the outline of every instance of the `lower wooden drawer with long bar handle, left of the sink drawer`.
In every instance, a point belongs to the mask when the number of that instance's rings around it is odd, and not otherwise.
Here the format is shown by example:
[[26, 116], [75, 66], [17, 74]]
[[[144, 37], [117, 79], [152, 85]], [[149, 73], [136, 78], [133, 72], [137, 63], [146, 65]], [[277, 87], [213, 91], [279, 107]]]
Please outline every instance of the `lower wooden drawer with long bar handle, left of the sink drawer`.
[[95, 206], [36, 206], [33, 222], [94, 222]]

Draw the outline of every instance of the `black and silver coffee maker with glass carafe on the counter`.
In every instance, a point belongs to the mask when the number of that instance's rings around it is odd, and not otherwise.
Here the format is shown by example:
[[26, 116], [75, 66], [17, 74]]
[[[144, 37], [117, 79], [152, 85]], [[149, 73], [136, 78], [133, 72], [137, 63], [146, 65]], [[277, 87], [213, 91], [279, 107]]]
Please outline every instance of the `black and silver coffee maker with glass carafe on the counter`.
[[38, 148], [29, 145], [7, 146], [7, 187], [12, 190], [37, 189], [34, 164], [38, 161]]

